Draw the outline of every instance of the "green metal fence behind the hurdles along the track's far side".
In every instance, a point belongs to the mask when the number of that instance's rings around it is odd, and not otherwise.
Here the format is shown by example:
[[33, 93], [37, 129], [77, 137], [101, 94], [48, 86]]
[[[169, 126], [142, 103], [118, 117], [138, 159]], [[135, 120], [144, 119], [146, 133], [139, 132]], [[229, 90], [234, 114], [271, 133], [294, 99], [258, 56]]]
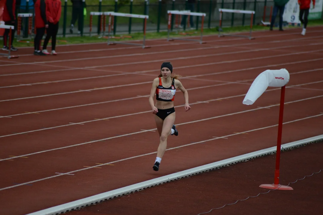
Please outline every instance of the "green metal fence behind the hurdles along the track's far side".
[[[255, 10], [253, 24], [260, 24], [264, 15], [264, 6], [273, 6], [273, 0], [196, 0], [190, 4], [187, 0], [83, 0], [86, 8], [86, 15], [81, 13], [80, 22], [76, 21], [73, 34], [70, 32], [72, 20], [71, 0], [62, 0], [62, 15], [59, 22], [59, 35], [89, 35], [90, 12], [114, 11], [120, 13], [132, 13], [149, 15], [147, 20], [147, 32], [160, 32], [167, 30], [168, 15], [167, 10], [192, 10], [194, 12], [206, 13], [204, 28], [213, 28], [219, 25], [219, 8]], [[82, 9], [82, 8], [81, 8]], [[83, 10], [82, 10], [83, 11]], [[17, 7], [17, 13], [34, 13], [34, 8], [26, 6], [22, 10]], [[266, 11], [266, 21], [269, 21], [269, 9]], [[172, 18], [172, 28], [174, 27], [174, 16]], [[250, 14], [224, 13], [222, 16], [222, 26], [250, 25]], [[194, 29], [201, 27], [201, 17], [193, 17]], [[187, 23], [187, 20], [186, 22]], [[114, 20], [114, 34], [127, 34], [133, 32], [143, 32], [144, 20], [140, 18], [116, 17]], [[79, 28], [80, 26], [80, 28]], [[93, 16], [92, 34], [100, 33], [100, 17]], [[106, 21], [108, 26], [108, 18]], [[22, 35], [26, 37], [26, 19], [22, 24]], [[106, 27], [107, 32], [108, 27]]]

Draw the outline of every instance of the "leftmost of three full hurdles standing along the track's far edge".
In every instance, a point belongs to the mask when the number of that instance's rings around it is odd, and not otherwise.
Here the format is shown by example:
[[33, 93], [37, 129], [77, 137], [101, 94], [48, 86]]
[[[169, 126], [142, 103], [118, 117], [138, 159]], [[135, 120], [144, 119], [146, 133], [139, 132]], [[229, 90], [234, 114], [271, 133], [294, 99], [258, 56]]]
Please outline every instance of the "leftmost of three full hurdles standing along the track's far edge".
[[[146, 46], [146, 26], [147, 26], [147, 19], [149, 18], [148, 15], [140, 15], [140, 14], [126, 14], [126, 13], [117, 13], [117, 12], [104, 12], [104, 20], [106, 16], [109, 16], [109, 28], [108, 28], [108, 45], [115, 45], [115, 44], [128, 44], [128, 45], [140, 45], [142, 48], [151, 48], [150, 46]], [[124, 16], [124, 17], [131, 17], [131, 18], [141, 18], [145, 19], [145, 24], [144, 24], [144, 30], [143, 30], [143, 42], [142, 44], [136, 44], [136, 43], [127, 43], [127, 42], [110, 42], [110, 33], [111, 33], [111, 23], [114, 19], [114, 16]], [[112, 25], [113, 26], [113, 25]], [[104, 30], [105, 31], [105, 28]]]

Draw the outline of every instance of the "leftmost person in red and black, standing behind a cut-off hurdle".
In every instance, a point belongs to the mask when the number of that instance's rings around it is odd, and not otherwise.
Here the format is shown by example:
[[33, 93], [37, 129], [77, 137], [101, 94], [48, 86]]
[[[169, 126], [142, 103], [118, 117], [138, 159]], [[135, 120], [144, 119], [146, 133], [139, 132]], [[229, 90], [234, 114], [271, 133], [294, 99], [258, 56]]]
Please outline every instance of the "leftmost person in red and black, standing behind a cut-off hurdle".
[[[17, 51], [15, 47], [12, 46], [15, 37], [16, 31], [16, 0], [5, 0], [5, 6], [3, 8], [2, 19], [5, 22], [5, 25], [13, 25], [15, 29], [11, 29], [11, 51]], [[9, 38], [10, 29], [5, 29], [5, 33], [3, 34], [3, 48], [4, 51], [9, 51], [8, 38]]]

